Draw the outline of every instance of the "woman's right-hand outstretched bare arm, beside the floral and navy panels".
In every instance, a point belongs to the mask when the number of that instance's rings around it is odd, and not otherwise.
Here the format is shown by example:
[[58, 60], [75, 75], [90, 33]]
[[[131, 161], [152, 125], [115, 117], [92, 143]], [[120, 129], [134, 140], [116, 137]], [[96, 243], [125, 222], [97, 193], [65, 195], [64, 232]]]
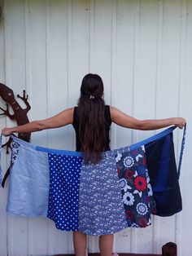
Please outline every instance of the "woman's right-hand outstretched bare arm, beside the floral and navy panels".
[[110, 107], [111, 121], [116, 125], [137, 130], [156, 130], [167, 126], [175, 125], [182, 129], [185, 126], [185, 118], [171, 117], [157, 120], [138, 120], [121, 112], [118, 108]]

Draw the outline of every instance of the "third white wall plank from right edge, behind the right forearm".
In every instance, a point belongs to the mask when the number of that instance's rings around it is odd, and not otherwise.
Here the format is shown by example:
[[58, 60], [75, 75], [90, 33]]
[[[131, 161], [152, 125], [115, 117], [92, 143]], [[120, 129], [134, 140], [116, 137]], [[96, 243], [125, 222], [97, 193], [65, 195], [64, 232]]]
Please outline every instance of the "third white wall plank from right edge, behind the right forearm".
[[[133, 82], [133, 116], [155, 118], [155, 79], [157, 46], [157, 2], [137, 2], [135, 16], [135, 59]], [[133, 131], [133, 142], [153, 135], [154, 131]], [[152, 216], [151, 216], [152, 218]], [[152, 223], [153, 225], [153, 223]], [[132, 231], [132, 253], [153, 250], [153, 226]]]

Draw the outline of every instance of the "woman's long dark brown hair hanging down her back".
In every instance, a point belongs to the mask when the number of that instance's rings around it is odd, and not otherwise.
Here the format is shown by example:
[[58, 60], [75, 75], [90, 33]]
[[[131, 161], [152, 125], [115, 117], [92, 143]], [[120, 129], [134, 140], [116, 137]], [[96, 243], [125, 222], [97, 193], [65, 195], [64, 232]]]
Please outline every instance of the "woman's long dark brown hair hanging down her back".
[[97, 74], [85, 75], [78, 102], [79, 136], [85, 163], [97, 163], [106, 143], [103, 81]]

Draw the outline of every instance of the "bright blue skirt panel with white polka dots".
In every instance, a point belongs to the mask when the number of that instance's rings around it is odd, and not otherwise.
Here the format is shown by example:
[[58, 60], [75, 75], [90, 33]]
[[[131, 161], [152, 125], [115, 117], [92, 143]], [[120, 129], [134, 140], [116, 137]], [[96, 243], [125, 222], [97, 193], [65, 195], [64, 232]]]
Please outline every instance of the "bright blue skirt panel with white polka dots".
[[47, 217], [63, 231], [79, 228], [79, 189], [82, 157], [48, 154], [50, 193]]

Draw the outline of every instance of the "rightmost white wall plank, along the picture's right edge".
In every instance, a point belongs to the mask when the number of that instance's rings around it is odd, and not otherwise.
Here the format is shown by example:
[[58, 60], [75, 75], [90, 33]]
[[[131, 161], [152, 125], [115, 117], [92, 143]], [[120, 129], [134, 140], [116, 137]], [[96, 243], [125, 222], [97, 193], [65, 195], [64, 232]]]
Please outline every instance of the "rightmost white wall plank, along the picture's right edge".
[[[181, 167], [181, 195], [182, 195], [182, 203], [183, 210], [179, 214], [179, 222], [181, 222], [177, 226], [177, 243], [178, 243], [178, 252], [179, 256], [187, 256], [190, 255], [192, 250], [192, 244], [190, 241], [190, 233], [191, 233], [191, 217], [189, 213], [192, 210], [192, 205], [190, 204], [191, 197], [191, 180], [192, 174], [190, 170], [190, 166], [192, 164], [191, 159], [191, 145], [190, 141], [192, 139], [191, 135], [191, 81], [192, 81], [192, 2], [184, 1], [184, 16], [182, 15], [182, 21], [184, 22], [184, 26], [182, 27], [181, 33], [181, 90], [180, 90], [180, 105], [179, 105], [179, 115], [186, 118], [187, 121], [187, 132], [186, 132], [186, 141], [185, 141], [185, 152], [183, 157], [183, 163]], [[186, 9], [185, 9], [186, 8]], [[186, 19], [186, 20], [185, 20]], [[186, 21], [186, 23], [185, 23]], [[181, 135], [181, 132], [180, 132]]]

